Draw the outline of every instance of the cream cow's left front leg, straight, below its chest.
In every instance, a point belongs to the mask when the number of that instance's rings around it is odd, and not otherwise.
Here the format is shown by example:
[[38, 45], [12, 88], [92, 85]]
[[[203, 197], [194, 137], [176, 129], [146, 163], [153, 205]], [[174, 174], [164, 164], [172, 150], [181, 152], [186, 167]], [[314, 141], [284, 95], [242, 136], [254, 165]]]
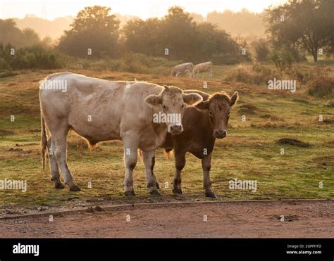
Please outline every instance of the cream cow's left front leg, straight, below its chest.
[[135, 196], [133, 189], [132, 172], [137, 165], [137, 141], [135, 139], [123, 139], [124, 141], [124, 164], [125, 164], [125, 177], [124, 177], [124, 194], [125, 196]]

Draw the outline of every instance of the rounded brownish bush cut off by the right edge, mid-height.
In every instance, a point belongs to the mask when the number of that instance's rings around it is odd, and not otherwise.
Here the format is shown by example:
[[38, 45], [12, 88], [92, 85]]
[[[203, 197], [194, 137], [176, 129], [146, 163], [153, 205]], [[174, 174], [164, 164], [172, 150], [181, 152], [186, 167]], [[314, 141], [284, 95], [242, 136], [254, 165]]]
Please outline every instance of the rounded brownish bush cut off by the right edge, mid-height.
[[318, 98], [333, 98], [334, 96], [334, 77], [319, 75], [309, 83], [308, 94]]

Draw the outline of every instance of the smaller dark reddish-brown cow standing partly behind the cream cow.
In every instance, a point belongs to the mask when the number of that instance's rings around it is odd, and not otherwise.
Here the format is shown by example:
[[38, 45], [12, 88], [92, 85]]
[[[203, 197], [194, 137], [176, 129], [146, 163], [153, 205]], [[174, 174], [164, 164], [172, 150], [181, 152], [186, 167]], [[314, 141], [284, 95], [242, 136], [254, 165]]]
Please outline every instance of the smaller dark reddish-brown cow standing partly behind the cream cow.
[[[186, 91], [185, 91], [186, 92]], [[194, 91], [191, 91], [194, 92]], [[227, 136], [230, 109], [235, 105], [237, 91], [230, 97], [224, 92], [213, 95], [201, 94], [203, 101], [194, 107], [186, 108], [183, 116], [183, 132], [180, 134], [167, 134], [163, 144], [166, 152], [174, 149], [175, 177], [173, 180], [173, 193], [182, 194], [181, 171], [185, 167], [185, 153], [190, 152], [202, 159], [203, 184], [205, 195], [216, 198], [211, 188], [210, 168], [211, 155], [216, 139]]]

